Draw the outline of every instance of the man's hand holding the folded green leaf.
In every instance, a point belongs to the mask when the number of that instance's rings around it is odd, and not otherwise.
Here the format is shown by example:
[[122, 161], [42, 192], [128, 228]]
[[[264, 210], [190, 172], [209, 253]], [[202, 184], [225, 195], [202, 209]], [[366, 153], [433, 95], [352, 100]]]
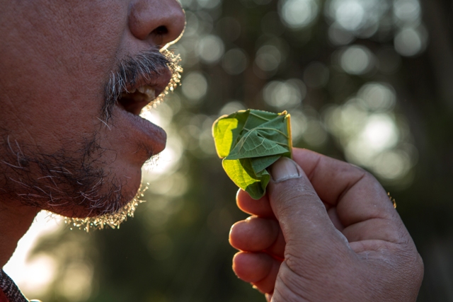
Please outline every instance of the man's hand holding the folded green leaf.
[[379, 182], [304, 149], [293, 158], [271, 166], [262, 199], [238, 192], [253, 216], [231, 228], [237, 276], [273, 302], [415, 301], [423, 262]]

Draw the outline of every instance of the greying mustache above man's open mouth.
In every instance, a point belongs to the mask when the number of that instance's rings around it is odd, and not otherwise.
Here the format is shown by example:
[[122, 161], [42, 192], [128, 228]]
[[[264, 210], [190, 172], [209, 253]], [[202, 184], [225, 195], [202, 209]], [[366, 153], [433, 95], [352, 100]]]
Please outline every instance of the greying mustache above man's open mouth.
[[[179, 58], [174, 57], [172, 52], [168, 50], [160, 52], [157, 49], [121, 59], [115, 71], [110, 73], [110, 79], [104, 88], [103, 119], [107, 121], [111, 117], [121, 93], [127, 91], [127, 88], [137, 86], [137, 84], [146, 85], [166, 69], [170, 69], [173, 74], [182, 71], [182, 69], [179, 70], [178, 62]], [[180, 77], [179, 74], [178, 77]]]

